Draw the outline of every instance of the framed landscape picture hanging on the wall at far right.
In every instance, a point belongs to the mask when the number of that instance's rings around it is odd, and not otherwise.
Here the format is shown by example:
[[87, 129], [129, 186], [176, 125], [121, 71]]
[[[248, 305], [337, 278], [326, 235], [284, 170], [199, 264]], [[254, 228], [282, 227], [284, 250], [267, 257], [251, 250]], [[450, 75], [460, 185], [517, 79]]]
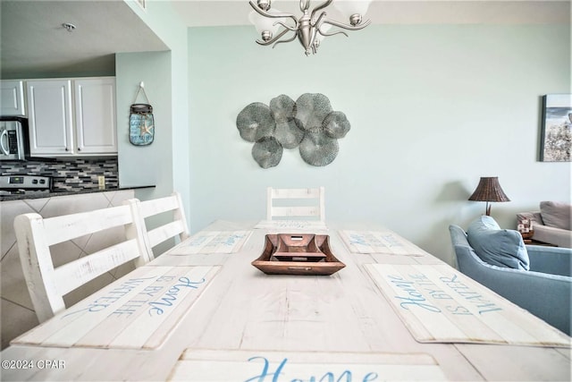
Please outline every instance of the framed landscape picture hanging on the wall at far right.
[[543, 96], [541, 162], [570, 162], [572, 150], [572, 94]]

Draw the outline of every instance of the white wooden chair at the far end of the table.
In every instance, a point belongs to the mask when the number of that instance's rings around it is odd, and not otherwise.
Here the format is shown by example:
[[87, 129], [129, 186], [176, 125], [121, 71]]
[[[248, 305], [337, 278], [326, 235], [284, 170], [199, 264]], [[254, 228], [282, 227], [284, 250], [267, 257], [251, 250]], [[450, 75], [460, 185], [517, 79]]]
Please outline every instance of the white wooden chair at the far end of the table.
[[268, 187], [266, 220], [314, 219], [325, 221], [324, 187], [276, 189]]

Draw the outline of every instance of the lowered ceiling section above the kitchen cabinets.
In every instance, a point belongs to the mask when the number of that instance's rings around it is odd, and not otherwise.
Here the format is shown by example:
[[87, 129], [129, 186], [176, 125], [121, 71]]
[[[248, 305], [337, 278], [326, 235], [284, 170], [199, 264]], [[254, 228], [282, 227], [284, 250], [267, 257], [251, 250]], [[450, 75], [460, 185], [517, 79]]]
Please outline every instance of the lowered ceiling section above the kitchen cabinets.
[[0, 0], [0, 7], [2, 78], [114, 72], [116, 52], [168, 49], [122, 1]]

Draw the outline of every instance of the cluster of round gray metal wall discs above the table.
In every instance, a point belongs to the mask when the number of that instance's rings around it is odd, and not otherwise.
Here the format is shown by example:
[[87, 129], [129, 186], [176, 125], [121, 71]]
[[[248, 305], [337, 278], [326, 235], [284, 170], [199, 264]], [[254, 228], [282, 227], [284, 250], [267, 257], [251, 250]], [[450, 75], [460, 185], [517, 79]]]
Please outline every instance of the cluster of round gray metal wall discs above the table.
[[324, 94], [306, 93], [296, 102], [283, 94], [270, 106], [254, 102], [239, 113], [236, 127], [243, 140], [254, 142], [252, 157], [257, 164], [269, 168], [278, 166], [283, 149], [296, 148], [308, 165], [331, 164], [338, 155], [338, 140], [350, 126]]

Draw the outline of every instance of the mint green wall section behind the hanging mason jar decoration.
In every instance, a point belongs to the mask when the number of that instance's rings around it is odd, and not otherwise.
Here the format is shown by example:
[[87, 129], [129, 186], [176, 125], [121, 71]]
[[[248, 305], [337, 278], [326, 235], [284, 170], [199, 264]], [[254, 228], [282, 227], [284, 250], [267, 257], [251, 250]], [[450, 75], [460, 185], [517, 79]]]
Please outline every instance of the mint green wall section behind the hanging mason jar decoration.
[[[179, 191], [189, 216], [187, 27], [173, 11], [170, 2], [147, 1], [146, 11], [133, 0], [125, 0], [125, 3], [170, 50], [116, 55], [117, 92], [121, 98], [118, 99], [118, 111], [129, 113], [139, 82], [144, 81], [156, 118], [156, 141], [148, 148], [131, 146], [120, 131], [120, 184], [156, 184], [153, 191], [138, 191], [136, 196], [140, 199], [158, 198], [171, 194], [173, 190]], [[121, 123], [120, 120], [120, 126]]]

